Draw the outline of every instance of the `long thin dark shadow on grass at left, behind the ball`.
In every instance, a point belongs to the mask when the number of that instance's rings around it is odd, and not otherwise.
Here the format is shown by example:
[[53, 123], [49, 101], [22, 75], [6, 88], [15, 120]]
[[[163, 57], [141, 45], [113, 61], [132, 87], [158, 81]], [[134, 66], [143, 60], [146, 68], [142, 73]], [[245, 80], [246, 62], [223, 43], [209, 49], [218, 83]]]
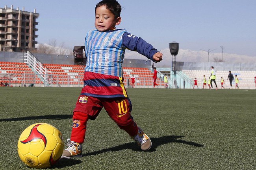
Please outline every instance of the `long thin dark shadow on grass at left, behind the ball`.
[[37, 120], [37, 119], [72, 119], [72, 114], [70, 115], [42, 115], [42, 116], [28, 116], [28, 117], [17, 117], [10, 119], [0, 119], [0, 122], [8, 122], [8, 121], [27, 121], [27, 120]]

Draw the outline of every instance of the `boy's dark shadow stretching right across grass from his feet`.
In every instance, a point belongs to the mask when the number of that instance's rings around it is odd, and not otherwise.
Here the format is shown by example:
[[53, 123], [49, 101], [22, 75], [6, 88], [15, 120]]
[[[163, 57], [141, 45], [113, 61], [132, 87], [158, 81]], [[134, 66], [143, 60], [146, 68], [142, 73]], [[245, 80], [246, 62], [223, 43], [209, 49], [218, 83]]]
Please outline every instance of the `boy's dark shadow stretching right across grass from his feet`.
[[[162, 144], [167, 144], [167, 143], [183, 143], [187, 144], [190, 146], [195, 146], [195, 147], [203, 147], [204, 145], [198, 144], [195, 142], [189, 142], [189, 141], [184, 141], [179, 138], [182, 138], [185, 136], [163, 136], [163, 137], [152, 137], [150, 140], [152, 141], [152, 147], [150, 148], [149, 151], [147, 152], [154, 152], [156, 151], [156, 148]], [[90, 156], [90, 155], [97, 155], [97, 154], [102, 154], [104, 152], [113, 152], [113, 151], [119, 151], [119, 150], [124, 150], [124, 149], [132, 149], [135, 151], [141, 151], [141, 149], [137, 146], [135, 142], [130, 142], [126, 144], [121, 144], [119, 146], [115, 146], [112, 148], [107, 148], [107, 149], [102, 149], [99, 151], [91, 152], [91, 153], [86, 153], [83, 154], [83, 156]], [[141, 151], [143, 152], [143, 151]]]

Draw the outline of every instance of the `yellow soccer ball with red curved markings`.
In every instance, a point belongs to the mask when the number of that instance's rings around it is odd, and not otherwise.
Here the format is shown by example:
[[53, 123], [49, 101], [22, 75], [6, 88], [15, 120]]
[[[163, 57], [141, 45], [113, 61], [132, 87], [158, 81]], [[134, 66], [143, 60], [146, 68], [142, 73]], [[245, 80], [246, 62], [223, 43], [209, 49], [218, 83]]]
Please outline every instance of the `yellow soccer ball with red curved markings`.
[[28, 126], [20, 135], [18, 154], [31, 168], [48, 168], [61, 157], [64, 141], [61, 132], [47, 123]]

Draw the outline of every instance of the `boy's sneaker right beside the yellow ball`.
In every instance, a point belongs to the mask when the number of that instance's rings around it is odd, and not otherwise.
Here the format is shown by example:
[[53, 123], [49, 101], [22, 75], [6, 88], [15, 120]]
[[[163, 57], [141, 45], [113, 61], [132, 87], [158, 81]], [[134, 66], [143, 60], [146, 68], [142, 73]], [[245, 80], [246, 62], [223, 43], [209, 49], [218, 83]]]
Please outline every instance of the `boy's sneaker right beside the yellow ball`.
[[69, 147], [63, 151], [61, 158], [82, 157], [82, 144], [67, 140]]

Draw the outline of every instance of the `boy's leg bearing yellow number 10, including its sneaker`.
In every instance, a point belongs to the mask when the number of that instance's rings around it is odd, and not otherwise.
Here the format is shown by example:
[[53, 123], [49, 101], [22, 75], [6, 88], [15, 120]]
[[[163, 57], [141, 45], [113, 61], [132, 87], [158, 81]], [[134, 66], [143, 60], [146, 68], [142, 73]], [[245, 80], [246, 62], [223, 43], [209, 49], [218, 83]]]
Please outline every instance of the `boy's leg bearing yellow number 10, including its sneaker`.
[[142, 150], [151, 148], [149, 137], [137, 126], [132, 115], [132, 103], [129, 98], [122, 99], [103, 99], [103, 106], [113, 121], [119, 128], [125, 130], [134, 139]]

